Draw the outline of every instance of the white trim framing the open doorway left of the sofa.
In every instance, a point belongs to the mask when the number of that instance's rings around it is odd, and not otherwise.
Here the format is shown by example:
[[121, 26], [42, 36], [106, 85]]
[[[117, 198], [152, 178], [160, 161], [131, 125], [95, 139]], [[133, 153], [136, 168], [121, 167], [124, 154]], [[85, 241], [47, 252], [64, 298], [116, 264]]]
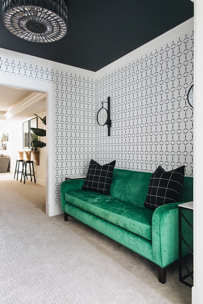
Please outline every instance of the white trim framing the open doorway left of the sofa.
[[[0, 85], [46, 93], [46, 214], [54, 216], [59, 207], [55, 207], [55, 90], [56, 85], [45, 81], [29, 80], [23, 77], [0, 74]], [[55, 212], [56, 209], [56, 212]]]

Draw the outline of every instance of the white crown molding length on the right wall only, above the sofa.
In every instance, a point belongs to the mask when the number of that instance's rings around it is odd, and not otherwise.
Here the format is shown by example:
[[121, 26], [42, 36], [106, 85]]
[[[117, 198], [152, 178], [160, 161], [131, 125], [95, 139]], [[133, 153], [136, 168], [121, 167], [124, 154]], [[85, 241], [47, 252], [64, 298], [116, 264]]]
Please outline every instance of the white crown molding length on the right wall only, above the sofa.
[[181, 36], [192, 32], [193, 30], [194, 30], [194, 17], [177, 25], [173, 29], [170, 29], [168, 32], [162, 34], [161, 36], [147, 42], [146, 44], [128, 53], [127, 55], [106, 65], [104, 68], [101, 68], [101, 70], [98, 70], [96, 72], [96, 79], [99, 79], [102, 76], [105, 76], [110, 72], [115, 71], [118, 68], [121, 68], [126, 64], [129, 64], [130, 62], [153, 52], [156, 49], [159, 49], [160, 47], [166, 45], [167, 43], [172, 42], [177, 38], [180, 38]]

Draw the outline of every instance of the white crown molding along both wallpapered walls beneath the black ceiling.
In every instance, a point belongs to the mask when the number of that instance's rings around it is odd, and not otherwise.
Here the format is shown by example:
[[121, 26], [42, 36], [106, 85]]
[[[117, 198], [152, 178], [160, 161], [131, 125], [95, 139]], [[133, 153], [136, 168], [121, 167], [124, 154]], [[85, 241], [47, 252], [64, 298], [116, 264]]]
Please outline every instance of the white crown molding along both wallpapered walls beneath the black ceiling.
[[[176, 40], [177, 38], [190, 33], [194, 29], [194, 17], [189, 20], [177, 25], [173, 29], [170, 29], [168, 32], [162, 34], [161, 36], [149, 41], [145, 45], [135, 49], [134, 51], [126, 54], [125, 56], [119, 58], [118, 60], [108, 64], [104, 68], [101, 68], [97, 72], [85, 70], [82, 68], [73, 67], [71, 65], [58, 63], [55, 61], [18, 53], [15, 51], [10, 51], [7, 49], [0, 48], [0, 57], [4, 57], [10, 60], [25, 62], [27, 64], [33, 64], [44, 68], [50, 68], [57, 71], [63, 71], [74, 75], [85, 76], [91, 79], [99, 79], [102, 76], [109, 74], [112, 71], [117, 70], [129, 64], [130, 62], [153, 52], [154, 50], [160, 48], [161, 46], [166, 45], [167, 43]], [[33, 80], [32, 80], [33, 81]]]

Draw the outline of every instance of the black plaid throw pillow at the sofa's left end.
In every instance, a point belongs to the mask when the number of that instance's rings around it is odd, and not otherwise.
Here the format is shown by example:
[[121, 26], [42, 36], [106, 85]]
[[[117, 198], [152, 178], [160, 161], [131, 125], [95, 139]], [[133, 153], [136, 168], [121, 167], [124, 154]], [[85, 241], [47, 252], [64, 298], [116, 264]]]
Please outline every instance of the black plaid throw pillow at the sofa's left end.
[[82, 190], [90, 190], [110, 196], [110, 187], [113, 176], [113, 169], [116, 161], [100, 166], [93, 159], [90, 160], [87, 177]]

